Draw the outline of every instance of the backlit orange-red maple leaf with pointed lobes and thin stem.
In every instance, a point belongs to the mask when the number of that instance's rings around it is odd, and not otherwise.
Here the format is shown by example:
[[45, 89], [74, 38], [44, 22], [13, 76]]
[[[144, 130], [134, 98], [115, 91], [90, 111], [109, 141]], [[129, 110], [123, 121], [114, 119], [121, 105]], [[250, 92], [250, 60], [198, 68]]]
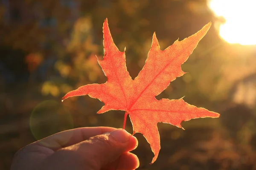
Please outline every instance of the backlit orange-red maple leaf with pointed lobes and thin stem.
[[182, 98], [174, 100], [155, 98], [167, 88], [171, 81], [185, 74], [181, 70], [181, 65], [188, 59], [210, 26], [211, 23], [208, 23], [196, 34], [182, 41], [176, 40], [173, 45], [163, 51], [160, 50], [154, 33], [145, 65], [133, 80], [126, 68], [125, 50], [120, 52], [114, 44], [106, 19], [103, 24], [104, 58], [98, 59], [98, 62], [108, 78], [107, 82], [81, 86], [67, 93], [62, 101], [72, 96], [89, 95], [105, 104], [97, 113], [110, 110], [125, 111], [123, 128], [125, 128], [126, 116], [129, 114], [133, 134], [142, 133], [151, 146], [154, 153], [152, 164], [156, 161], [160, 150], [158, 122], [182, 128], [182, 121], [219, 117], [218, 113], [189, 105]]

